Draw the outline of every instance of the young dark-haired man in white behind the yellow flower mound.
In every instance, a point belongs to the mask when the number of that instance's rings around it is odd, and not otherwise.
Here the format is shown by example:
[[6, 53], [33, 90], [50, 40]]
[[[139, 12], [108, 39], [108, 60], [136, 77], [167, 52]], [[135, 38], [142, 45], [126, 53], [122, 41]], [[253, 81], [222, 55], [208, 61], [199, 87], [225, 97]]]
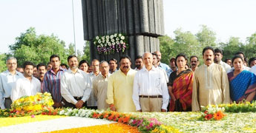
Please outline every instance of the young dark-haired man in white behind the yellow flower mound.
[[10, 98], [11, 100], [17, 100], [23, 96], [36, 95], [37, 92], [41, 92], [40, 81], [33, 77], [34, 64], [30, 61], [26, 61], [23, 64], [24, 78], [19, 78], [13, 86]]

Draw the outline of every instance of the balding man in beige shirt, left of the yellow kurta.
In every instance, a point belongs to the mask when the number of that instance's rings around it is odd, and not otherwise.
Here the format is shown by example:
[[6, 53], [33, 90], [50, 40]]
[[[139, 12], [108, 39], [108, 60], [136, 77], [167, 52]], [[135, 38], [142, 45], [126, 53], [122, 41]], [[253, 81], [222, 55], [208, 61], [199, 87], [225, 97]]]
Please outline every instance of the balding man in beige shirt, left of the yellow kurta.
[[99, 64], [99, 76], [93, 80], [93, 92], [96, 97], [98, 109], [108, 109], [106, 103], [108, 91], [109, 66], [107, 61], [101, 61]]

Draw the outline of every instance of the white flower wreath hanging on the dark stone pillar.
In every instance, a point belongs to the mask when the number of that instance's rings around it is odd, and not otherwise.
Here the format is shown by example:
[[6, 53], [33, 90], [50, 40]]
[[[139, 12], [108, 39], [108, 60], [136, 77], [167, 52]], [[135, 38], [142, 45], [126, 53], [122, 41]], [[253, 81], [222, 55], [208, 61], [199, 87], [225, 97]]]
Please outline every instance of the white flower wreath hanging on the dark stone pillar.
[[113, 35], [96, 36], [93, 40], [99, 54], [109, 55], [115, 52], [125, 52], [128, 48], [125, 35], [115, 33]]

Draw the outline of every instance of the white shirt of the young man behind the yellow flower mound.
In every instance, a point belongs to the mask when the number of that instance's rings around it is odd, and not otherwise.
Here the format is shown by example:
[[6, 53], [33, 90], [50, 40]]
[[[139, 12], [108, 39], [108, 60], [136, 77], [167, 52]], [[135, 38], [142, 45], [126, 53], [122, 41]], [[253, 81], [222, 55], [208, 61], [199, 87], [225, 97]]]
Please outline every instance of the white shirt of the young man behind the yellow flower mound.
[[41, 92], [41, 83], [37, 78], [32, 76], [31, 81], [27, 78], [19, 78], [13, 86], [10, 98], [14, 101], [23, 96], [36, 95], [37, 92]]

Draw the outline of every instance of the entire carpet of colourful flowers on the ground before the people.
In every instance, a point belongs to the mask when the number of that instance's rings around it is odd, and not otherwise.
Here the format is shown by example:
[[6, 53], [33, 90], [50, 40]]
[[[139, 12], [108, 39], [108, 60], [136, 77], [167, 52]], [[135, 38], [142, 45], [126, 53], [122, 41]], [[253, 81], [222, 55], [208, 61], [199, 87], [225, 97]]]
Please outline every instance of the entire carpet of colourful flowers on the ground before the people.
[[[48, 94], [39, 94], [35, 97], [25, 97], [22, 100], [19, 99], [18, 101], [20, 102], [14, 102], [13, 109], [0, 110], [0, 132], [83, 132], [93, 129], [99, 129], [100, 132], [102, 132], [102, 129], [104, 131], [116, 129], [142, 133], [256, 132], [255, 102], [206, 106], [202, 108], [203, 112], [119, 113], [91, 109], [53, 110], [49, 106], [52, 103], [48, 96]], [[29, 100], [26, 100], [26, 98]], [[29, 104], [26, 102], [29, 102]], [[23, 106], [26, 106], [26, 108], [23, 108]], [[42, 115], [37, 115], [39, 113]], [[19, 117], [26, 115], [30, 116]], [[64, 115], [68, 117], [47, 115]], [[99, 125], [100, 128], [96, 125]]]

